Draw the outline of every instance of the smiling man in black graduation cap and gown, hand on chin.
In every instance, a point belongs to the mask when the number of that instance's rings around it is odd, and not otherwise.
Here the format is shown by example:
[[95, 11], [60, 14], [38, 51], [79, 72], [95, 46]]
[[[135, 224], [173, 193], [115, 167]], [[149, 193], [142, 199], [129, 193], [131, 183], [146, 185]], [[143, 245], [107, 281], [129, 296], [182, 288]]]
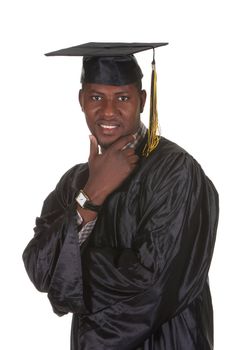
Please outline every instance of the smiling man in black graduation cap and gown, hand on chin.
[[85, 56], [90, 156], [44, 202], [26, 269], [55, 313], [73, 313], [72, 350], [213, 349], [217, 192], [185, 150], [158, 139], [155, 76], [147, 133], [136, 59], [124, 44], [101, 45], [52, 53]]

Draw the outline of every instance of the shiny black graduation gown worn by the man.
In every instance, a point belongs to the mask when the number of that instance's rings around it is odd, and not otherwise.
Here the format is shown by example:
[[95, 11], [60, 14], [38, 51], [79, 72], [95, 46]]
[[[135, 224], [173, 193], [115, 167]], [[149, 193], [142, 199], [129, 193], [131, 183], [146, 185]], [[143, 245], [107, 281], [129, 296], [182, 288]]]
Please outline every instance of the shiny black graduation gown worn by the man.
[[54, 312], [73, 313], [71, 349], [213, 349], [218, 195], [200, 165], [161, 138], [107, 198], [80, 249], [75, 196], [87, 177], [87, 164], [62, 177], [23, 254]]

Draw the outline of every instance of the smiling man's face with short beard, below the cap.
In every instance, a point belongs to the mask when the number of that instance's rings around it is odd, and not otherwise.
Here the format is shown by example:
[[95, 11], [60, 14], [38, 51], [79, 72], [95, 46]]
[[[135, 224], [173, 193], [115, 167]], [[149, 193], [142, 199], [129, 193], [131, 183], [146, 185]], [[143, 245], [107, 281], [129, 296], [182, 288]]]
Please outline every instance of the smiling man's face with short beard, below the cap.
[[84, 84], [79, 94], [89, 130], [102, 148], [137, 131], [145, 100], [146, 92], [134, 84]]

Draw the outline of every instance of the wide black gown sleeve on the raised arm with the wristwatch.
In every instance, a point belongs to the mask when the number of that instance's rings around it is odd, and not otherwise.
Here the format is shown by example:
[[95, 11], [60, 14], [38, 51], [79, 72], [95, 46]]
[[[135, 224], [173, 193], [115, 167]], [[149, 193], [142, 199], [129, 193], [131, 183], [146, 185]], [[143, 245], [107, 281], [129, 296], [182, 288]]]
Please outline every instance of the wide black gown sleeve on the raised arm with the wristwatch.
[[[44, 201], [36, 218], [34, 237], [23, 252], [32, 283], [40, 292], [52, 295], [54, 312], [62, 316], [83, 310], [83, 284], [78, 244], [75, 192], [67, 172]], [[69, 181], [66, 181], [66, 179]], [[83, 182], [77, 183], [76, 191]]]

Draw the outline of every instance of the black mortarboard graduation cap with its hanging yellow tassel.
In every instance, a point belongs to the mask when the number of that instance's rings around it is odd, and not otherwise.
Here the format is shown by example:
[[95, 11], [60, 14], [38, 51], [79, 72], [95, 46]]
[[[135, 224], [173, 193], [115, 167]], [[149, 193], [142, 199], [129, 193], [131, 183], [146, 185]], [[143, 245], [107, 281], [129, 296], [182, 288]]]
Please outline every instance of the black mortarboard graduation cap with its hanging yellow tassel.
[[168, 43], [90, 42], [46, 53], [46, 56], [83, 56], [81, 83], [128, 85], [141, 81], [143, 74], [135, 53], [153, 49], [150, 122], [143, 155], [148, 156], [159, 143], [157, 112], [157, 76], [154, 49]]

